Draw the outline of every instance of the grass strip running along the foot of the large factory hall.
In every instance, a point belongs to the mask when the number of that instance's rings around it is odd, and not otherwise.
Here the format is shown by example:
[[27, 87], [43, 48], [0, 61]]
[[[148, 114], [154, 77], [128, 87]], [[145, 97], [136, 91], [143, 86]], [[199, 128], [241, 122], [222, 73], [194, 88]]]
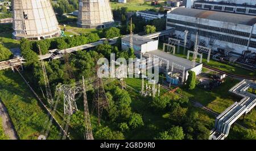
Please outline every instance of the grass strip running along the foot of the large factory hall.
[[[163, 49], [162, 42], [159, 43], [159, 49], [161, 49], [161, 50]], [[176, 50], [177, 50], [177, 47], [176, 47]], [[188, 51], [188, 49], [185, 49], [185, 54], [183, 54], [183, 47], [180, 47], [180, 52], [176, 51], [175, 55], [179, 56], [179, 57], [187, 58], [187, 51]], [[189, 59], [192, 60], [192, 54], [189, 57]], [[197, 59], [197, 62], [199, 62], [199, 58]], [[249, 75], [252, 77], [256, 76], [255, 72], [251, 72], [249, 70], [242, 69], [242, 68], [239, 68], [234, 65], [229, 65], [229, 64], [224, 64], [224, 63], [218, 62], [218, 61], [214, 61], [212, 59], [210, 59], [210, 62], [208, 63], [206, 54], [203, 54], [203, 64], [206, 64], [206, 65], [212, 66], [214, 68], [223, 70], [225, 72], [233, 73], [233, 74]]]

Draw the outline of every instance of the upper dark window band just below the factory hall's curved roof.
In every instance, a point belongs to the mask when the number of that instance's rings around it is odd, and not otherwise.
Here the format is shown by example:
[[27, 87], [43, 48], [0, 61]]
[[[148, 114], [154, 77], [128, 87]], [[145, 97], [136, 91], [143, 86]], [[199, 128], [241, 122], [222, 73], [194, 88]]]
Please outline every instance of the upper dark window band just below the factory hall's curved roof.
[[217, 31], [217, 32], [224, 32], [224, 33], [229, 33], [232, 35], [238, 35], [238, 36], [243, 36], [243, 37], [249, 37], [250, 33], [249, 32], [242, 32], [242, 31], [235, 31], [235, 30], [229, 30], [226, 28], [219, 28], [219, 27], [213, 27], [213, 26], [207, 26], [204, 24], [197, 24], [197, 23], [191, 23], [191, 22], [185, 22], [182, 20], [176, 20], [176, 19], [167, 19], [167, 22], [171, 23], [177, 23], [177, 24], [183, 24], [185, 26], [191, 26], [191, 27], [197, 27], [197, 28], [203, 28], [205, 30], [212, 30], [212, 31]]

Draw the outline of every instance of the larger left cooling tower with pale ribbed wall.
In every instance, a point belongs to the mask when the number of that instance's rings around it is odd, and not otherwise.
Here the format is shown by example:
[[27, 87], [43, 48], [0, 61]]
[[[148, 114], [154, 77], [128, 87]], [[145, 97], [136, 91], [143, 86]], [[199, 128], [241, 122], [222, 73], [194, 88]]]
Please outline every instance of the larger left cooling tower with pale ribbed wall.
[[49, 0], [13, 0], [13, 36], [40, 40], [60, 36], [60, 28]]

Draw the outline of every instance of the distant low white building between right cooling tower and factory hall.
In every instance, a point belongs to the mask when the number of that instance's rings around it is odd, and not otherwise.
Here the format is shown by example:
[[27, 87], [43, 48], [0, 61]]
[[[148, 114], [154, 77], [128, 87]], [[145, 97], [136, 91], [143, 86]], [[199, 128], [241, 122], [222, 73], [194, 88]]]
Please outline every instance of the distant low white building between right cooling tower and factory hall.
[[146, 19], [146, 20], [164, 18], [164, 14], [160, 12], [154, 12], [154, 11], [137, 11], [136, 15], [141, 16], [143, 19]]

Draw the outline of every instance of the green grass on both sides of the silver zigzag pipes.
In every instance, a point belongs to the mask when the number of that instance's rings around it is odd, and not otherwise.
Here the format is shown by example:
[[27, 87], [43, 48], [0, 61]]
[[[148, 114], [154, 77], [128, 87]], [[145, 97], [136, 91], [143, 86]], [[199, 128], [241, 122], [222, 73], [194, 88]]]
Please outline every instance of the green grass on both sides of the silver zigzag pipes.
[[[231, 106], [234, 102], [240, 102], [242, 98], [237, 97], [234, 94], [229, 93], [229, 89], [232, 88], [239, 81], [232, 81], [231, 78], [226, 78], [226, 81], [221, 86], [214, 88], [212, 91], [204, 90], [200, 87], [196, 87], [195, 90], [187, 90], [181, 88], [176, 92], [187, 96], [189, 99], [196, 100], [204, 106], [212, 109], [215, 112], [221, 113], [226, 108]], [[256, 111], [253, 109], [251, 114], [247, 114], [245, 119], [238, 120], [238, 123], [245, 126], [246, 128], [256, 128]]]

